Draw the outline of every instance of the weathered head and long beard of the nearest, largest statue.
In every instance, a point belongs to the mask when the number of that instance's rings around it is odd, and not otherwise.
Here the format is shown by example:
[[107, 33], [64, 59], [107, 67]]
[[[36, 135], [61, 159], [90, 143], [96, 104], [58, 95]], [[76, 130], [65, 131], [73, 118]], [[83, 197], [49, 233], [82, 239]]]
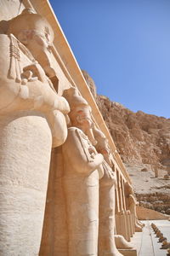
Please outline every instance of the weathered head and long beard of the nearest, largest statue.
[[51, 46], [54, 32], [48, 21], [32, 9], [24, 9], [21, 15], [9, 20], [8, 34], [14, 36], [31, 51], [49, 77], [54, 76], [51, 65]]

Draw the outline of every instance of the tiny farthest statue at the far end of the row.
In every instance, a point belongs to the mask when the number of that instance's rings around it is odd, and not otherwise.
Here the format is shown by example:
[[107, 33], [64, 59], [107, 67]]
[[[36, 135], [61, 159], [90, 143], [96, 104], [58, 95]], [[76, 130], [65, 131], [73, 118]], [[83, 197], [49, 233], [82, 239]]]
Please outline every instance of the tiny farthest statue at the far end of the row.
[[129, 210], [131, 214], [133, 214], [135, 231], [141, 232], [142, 227], [144, 225], [139, 222], [137, 212], [136, 212], [136, 206], [138, 205], [138, 201], [136, 201], [133, 195], [133, 187], [129, 183], [125, 183], [125, 196], [126, 196], [127, 210]]

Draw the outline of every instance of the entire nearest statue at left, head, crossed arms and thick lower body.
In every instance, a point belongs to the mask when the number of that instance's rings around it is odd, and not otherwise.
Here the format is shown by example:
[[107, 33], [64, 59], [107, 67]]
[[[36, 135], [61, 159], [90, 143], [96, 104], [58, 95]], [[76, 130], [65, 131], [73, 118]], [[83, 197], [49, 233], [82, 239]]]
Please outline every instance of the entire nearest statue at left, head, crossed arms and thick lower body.
[[[52, 144], [65, 142], [69, 105], [49, 78], [54, 32], [31, 9], [0, 35], [0, 254], [37, 255]], [[49, 77], [49, 78], [48, 78]]]

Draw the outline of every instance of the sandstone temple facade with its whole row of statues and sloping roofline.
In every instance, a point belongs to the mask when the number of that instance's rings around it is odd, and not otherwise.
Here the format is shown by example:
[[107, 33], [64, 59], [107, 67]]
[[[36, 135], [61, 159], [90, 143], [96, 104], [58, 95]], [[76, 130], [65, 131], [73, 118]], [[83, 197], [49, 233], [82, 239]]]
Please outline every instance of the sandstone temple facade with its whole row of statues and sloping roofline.
[[136, 255], [130, 177], [50, 3], [0, 13], [0, 254]]

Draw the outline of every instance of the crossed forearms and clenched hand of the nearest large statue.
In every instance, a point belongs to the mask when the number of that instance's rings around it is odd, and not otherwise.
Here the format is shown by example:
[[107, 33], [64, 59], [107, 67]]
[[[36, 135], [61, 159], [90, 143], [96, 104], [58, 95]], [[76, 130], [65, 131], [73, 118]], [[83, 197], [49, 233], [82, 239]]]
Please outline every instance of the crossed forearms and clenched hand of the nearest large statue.
[[69, 112], [70, 108], [65, 98], [57, 95], [53, 84], [38, 63], [24, 67], [21, 75], [25, 84], [22, 84], [22, 81], [14, 83], [12, 79], [1, 81], [0, 111], [7, 108], [35, 109], [42, 112], [57, 109], [62, 113]]

